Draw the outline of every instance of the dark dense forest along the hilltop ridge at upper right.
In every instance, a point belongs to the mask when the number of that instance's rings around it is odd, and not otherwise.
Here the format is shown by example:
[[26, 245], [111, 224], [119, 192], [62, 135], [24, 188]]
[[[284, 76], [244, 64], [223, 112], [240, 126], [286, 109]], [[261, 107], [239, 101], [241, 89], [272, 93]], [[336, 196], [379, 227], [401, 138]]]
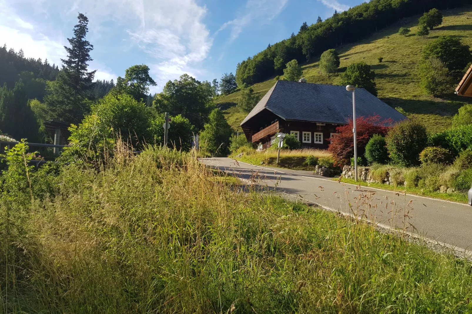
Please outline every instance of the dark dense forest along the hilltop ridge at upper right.
[[285, 65], [296, 59], [302, 63], [323, 51], [358, 41], [402, 18], [427, 12], [431, 8], [448, 9], [472, 3], [471, 0], [372, 0], [316, 23], [303, 23], [290, 38], [270, 45], [263, 51], [238, 63], [238, 86], [259, 83], [270, 76], [283, 74]]

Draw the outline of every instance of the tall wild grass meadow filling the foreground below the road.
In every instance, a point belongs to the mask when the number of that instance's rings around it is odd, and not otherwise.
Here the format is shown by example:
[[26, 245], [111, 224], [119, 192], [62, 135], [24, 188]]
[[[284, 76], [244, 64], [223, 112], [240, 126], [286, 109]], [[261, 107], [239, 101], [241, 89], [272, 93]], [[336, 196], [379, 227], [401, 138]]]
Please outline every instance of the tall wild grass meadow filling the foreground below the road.
[[191, 154], [104, 160], [26, 176], [15, 158], [2, 174], [0, 313], [472, 310], [465, 259], [242, 193]]

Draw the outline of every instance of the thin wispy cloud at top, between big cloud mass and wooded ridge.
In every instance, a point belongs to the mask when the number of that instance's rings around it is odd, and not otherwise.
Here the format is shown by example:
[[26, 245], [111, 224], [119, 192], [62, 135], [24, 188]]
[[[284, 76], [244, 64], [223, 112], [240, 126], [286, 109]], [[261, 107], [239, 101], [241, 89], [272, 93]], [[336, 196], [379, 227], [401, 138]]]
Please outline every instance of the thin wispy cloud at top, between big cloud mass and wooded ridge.
[[[259, 20], [261, 23], [269, 23], [277, 17], [287, 5], [288, 0], [247, 0], [244, 14], [234, 20], [221, 25], [216, 33], [232, 26], [229, 41], [234, 41], [252, 21]], [[216, 35], [216, 34], [215, 34]]]

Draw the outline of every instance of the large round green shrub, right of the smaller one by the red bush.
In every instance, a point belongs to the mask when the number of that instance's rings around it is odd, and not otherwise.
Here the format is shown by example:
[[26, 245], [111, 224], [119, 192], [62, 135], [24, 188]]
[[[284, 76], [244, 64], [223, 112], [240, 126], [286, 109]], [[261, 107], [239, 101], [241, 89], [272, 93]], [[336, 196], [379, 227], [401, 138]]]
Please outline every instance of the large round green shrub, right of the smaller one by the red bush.
[[428, 143], [428, 134], [423, 124], [406, 120], [391, 128], [385, 140], [393, 163], [411, 166], [419, 164], [419, 155]]

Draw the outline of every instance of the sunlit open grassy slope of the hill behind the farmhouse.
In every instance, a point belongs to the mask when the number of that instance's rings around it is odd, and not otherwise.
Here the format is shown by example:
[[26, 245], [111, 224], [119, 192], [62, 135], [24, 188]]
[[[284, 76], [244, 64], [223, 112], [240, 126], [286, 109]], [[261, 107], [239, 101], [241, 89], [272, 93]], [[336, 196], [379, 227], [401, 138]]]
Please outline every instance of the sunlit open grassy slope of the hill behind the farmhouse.
[[[450, 127], [452, 116], [457, 113], [457, 109], [464, 104], [472, 103], [472, 99], [452, 94], [447, 98], [433, 98], [427, 95], [419, 86], [417, 67], [421, 61], [423, 47], [438, 36], [460, 37], [464, 43], [472, 46], [472, 7], [445, 10], [443, 14], [443, 24], [430, 31], [430, 35], [424, 39], [414, 35], [419, 18], [416, 16], [404, 19], [401, 23], [381, 30], [365, 40], [337, 47], [341, 58], [339, 73], [351, 63], [363, 61], [371, 65], [377, 74], [376, 83], [380, 99], [392, 107], [402, 107], [412, 118], [421, 119], [431, 132]], [[398, 29], [401, 25], [409, 27], [412, 33], [407, 37], [399, 35]], [[378, 57], [384, 58], [382, 63], [379, 63]], [[313, 61], [302, 66], [303, 76], [308, 83], [339, 83], [339, 75], [328, 77], [320, 74], [319, 59]], [[254, 84], [253, 89], [263, 96], [275, 82], [272, 78]], [[246, 113], [235, 107], [238, 93], [217, 99], [228, 123], [235, 130], [241, 130], [239, 124], [246, 116]]]

